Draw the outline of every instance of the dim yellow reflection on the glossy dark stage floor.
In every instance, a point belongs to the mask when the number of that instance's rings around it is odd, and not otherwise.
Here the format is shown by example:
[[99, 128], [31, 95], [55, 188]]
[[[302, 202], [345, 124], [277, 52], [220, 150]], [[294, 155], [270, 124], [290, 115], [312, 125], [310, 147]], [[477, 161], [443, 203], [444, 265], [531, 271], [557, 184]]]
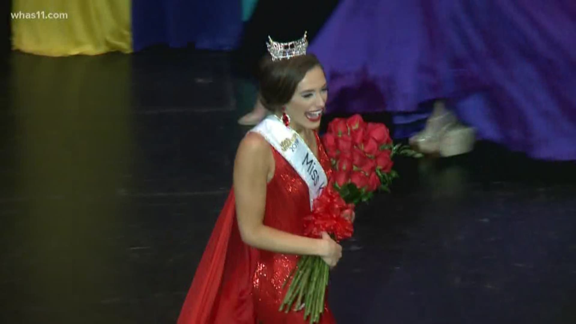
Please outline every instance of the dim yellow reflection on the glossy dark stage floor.
[[[111, 271], [118, 261], [93, 236], [113, 238], [127, 226], [132, 212], [119, 196], [138, 188], [130, 176], [141, 153], [132, 125], [131, 59], [11, 57], [14, 114], [2, 118], [13, 119], [16, 134], [14, 180], [2, 186], [13, 185], [14, 197], [26, 199], [18, 235], [41, 268], [24, 268], [30, 271], [20, 287], [47, 309], [77, 305], [86, 291], [126, 293], [121, 273]], [[58, 82], [51, 82], [54, 76]], [[14, 269], [22, 264], [15, 258]], [[71, 273], [78, 275], [65, 276]], [[56, 313], [22, 312], [20, 322], [68, 322], [67, 314]]]

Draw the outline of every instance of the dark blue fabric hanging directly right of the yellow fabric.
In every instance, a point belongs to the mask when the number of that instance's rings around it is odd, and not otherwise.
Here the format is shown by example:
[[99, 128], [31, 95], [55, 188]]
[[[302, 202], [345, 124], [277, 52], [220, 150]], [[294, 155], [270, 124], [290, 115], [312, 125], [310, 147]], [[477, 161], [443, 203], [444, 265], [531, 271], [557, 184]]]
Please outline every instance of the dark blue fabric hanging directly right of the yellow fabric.
[[134, 51], [194, 43], [203, 50], [231, 50], [242, 31], [238, 0], [136, 0], [132, 2]]

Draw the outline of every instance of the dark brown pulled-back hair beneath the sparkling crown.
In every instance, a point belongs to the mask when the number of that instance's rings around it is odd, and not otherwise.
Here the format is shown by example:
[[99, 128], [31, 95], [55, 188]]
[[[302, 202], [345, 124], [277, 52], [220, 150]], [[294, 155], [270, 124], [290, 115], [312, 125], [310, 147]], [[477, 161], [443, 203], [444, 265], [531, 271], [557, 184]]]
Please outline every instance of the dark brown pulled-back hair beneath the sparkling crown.
[[281, 61], [272, 61], [269, 54], [264, 56], [260, 63], [259, 100], [268, 110], [275, 112], [287, 104], [296, 87], [306, 73], [314, 67], [320, 66], [320, 61], [313, 54], [295, 56]]

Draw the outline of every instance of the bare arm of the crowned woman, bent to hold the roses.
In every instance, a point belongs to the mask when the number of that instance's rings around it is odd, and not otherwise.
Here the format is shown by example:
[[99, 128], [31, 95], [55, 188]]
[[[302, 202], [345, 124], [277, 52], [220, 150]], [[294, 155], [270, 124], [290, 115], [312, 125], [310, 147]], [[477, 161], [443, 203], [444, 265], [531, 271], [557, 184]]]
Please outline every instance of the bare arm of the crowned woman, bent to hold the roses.
[[319, 255], [329, 258], [329, 265], [335, 265], [342, 255], [342, 247], [329, 236], [306, 238], [263, 224], [268, 174], [273, 169], [274, 157], [266, 140], [256, 133], [246, 135], [240, 142], [234, 164], [234, 195], [242, 240], [249, 246], [277, 253]]

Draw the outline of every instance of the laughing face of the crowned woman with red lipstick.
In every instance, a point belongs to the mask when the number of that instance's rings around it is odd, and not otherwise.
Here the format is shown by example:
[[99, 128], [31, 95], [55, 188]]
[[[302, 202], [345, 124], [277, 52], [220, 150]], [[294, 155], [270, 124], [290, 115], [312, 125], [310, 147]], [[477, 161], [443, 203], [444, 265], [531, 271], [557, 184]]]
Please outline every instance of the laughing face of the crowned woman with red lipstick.
[[296, 87], [296, 91], [286, 104], [286, 114], [290, 116], [293, 129], [317, 129], [324, 112], [328, 88], [324, 71], [320, 66], [309, 70]]

